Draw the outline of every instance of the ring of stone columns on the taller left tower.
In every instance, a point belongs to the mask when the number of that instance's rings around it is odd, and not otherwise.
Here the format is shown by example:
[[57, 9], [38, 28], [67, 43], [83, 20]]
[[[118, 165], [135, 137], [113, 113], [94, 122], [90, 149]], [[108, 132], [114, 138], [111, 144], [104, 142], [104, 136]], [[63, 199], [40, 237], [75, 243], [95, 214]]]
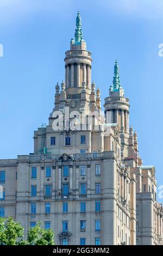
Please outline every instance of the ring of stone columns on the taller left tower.
[[82, 87], [82, 82], [86, 83], [86, 88], [91, 88], [91, 65], [86, 63], [71, 63], [66, 65], [65, 82], [66, 88]]

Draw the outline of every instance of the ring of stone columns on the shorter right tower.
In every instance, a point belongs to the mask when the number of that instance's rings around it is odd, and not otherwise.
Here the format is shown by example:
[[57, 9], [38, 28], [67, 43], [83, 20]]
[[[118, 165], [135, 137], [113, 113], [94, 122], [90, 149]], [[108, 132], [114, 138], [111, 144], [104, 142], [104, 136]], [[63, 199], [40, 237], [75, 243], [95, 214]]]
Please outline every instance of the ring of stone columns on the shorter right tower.
[[108, 109], [106, 111], [106, 122], [117, 123], [124, 127], [125, 132], [129, 132], [129, 111], [124, 109]]

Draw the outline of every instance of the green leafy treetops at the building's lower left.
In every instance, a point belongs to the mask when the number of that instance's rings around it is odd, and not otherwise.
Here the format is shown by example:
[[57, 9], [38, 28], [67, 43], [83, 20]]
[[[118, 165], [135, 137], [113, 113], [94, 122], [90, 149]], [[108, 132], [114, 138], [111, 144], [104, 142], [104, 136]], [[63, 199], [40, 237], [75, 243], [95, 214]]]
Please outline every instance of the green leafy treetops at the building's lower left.
[[28, 229], [27, 240], [23, 240], [24, 228], [12, 217], [0, 218], [0, 245], [54, 245], [54, 231], [41, 228], [38, 222]]

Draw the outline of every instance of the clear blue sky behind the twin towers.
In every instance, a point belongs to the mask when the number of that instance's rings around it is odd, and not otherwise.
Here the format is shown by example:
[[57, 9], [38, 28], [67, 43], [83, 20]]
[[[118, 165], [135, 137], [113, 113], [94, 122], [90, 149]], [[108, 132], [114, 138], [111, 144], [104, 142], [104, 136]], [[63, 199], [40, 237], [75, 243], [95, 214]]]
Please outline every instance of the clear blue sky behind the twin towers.
[[48, 123], [55, 84], [65, 75], [78, 9], [102, 100], [117, 58], [140, 156], [155, 165], [162, 185], [162, 0], [0, 0], [0, 159], [33, 152], [33, 131]]

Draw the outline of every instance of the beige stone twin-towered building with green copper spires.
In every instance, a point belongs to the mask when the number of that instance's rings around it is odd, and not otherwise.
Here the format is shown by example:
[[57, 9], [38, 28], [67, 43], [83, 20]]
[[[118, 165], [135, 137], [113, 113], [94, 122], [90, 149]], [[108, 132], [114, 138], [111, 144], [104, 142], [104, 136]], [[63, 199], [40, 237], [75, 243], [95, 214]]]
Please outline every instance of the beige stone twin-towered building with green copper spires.
[[91, 69], [78, 12], [49, 125], [34, 132], [34, 153], [0, 160], [0, 217], [26, 235], [41, 221], [56, 245], [162, 245], [155, 168], [142, 165], [117, 60], [104, 114]]

